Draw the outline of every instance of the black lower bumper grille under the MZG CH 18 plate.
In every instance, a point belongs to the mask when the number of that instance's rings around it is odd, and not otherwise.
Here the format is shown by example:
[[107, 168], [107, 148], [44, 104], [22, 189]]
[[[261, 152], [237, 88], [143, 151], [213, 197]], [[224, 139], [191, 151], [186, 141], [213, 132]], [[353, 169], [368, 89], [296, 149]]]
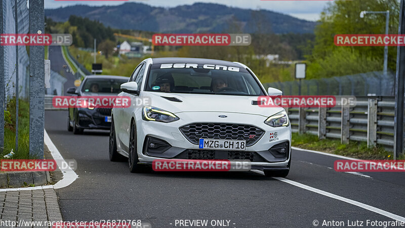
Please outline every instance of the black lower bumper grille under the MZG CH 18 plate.
[[207, 149], [186, 149], [175, 158], [198, 159], [198, 160], [215, 160], [215, 159], [249, 160], [251, 162], [266, 161], [254, 151], [207, 150]]

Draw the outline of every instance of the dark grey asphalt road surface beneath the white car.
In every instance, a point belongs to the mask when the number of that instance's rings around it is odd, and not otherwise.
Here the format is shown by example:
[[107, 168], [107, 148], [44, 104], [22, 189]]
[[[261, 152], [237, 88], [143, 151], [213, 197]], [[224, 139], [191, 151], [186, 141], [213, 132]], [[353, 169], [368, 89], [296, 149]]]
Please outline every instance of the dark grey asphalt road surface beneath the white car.
[[152, 227], [176, 227], [176, 219], [216, 219], [230, 220], [230, 227], [311, 227], [315, 219], [318, 226], [324, 220], [347, 226], [348, 220], [392, 221], [385, 212], [405, 217], [403, 173], [363, 173], [366, 177], [336, 172], [337, 158], [298, 150], [293, 150], [290, 174], [279, 180], [253, 171], [130, 173], [127, 162], [108, 160], [108, 132], [73, 135], [66, 117], [67, 111], [45, 113], [53, 143], [64, 159], [77, 161], [79, 178], [56, 189], [65, 221], [141, 219]]

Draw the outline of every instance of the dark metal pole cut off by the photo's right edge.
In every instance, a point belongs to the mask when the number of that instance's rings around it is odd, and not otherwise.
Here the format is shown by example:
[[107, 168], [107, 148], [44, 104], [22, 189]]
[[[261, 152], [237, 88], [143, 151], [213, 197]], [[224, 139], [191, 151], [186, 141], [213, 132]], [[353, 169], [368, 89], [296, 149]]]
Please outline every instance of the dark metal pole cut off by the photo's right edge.
[[[401, 0], [398, 34], [405, 34], [405, 0]], [[398, 46], [395, 75], [394, 160], [403, 153], [403, 97], [405, 81], [405, 46]]]

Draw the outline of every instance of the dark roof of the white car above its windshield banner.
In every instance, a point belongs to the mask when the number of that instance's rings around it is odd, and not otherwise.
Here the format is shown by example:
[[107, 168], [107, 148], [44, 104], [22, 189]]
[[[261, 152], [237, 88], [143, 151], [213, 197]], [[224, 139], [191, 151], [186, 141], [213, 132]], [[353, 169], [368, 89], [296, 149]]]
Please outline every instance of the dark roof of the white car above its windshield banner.
[[214, 65], [225, 65], [225, 66], [235, 66], [240, 67], [239, 64], [217, 60], [217, 59], [203, 59], [203, 58], [152, 58], [152, 62], [155, 64], [165, 64], [165, 63], [197, 63], [197, 64], [214, 64]]

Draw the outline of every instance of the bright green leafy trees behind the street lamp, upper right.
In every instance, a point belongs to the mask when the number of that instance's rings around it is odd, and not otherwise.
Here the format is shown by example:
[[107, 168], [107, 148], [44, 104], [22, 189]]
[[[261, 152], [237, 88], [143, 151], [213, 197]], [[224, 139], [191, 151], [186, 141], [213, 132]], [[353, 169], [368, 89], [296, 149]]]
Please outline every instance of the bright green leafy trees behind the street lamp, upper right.
[[[315, 28], [315, 45], [312, 54], [307, 56], [309, 78], [382, 70], [383, 47], [337, 47], [334, 44], [334, 36], [336, 34], [384, 34], [384, 14], [368, 14], [364, 18], [360, 18], [359, 14], [361, 11], [386, 10], [390, 11], [389, 33], [397, 34], [399, 13], [397, 0], [353, 0], [330, 3], [321, 13], [320, 23]], [[347, 59], [355, 63], [349, 63]], [[322, 68], [319, 68], [320, 66]], [[338, 66], [340, 69], [336, 68]], [[396, 47], [388, 49], [388, 67], [395, 70]], [[325, 74], [326, 72], [328, 74]]]

